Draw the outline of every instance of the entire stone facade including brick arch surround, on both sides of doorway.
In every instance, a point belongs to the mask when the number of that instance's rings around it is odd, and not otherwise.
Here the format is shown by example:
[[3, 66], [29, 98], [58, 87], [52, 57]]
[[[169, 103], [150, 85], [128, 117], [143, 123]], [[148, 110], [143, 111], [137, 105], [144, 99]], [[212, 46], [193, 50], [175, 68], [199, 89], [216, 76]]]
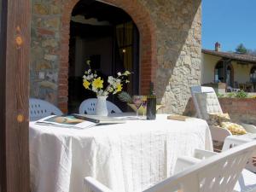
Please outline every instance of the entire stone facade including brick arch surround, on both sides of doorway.
[[[79, 0], [32, 0], [30, 94], [67, 111], [69, 22]], [[140, 33], [141, 94], [155, 82], [161, 112], [183, 113], [200, 84], [201, 0], [104, 0], [124, 9]]]

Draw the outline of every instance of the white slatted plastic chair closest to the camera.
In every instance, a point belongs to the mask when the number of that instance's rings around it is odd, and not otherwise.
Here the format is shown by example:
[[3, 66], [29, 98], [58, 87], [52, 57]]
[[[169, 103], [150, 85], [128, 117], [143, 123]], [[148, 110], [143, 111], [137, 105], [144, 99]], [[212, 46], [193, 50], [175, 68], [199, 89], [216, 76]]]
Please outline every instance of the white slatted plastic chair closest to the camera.
[[[143, 192], [231, 192], [255, 149], [256, 142], [231, 148], [201, 160]], [[113, 192], [93, 177], [84, 178], [84, 191]]]

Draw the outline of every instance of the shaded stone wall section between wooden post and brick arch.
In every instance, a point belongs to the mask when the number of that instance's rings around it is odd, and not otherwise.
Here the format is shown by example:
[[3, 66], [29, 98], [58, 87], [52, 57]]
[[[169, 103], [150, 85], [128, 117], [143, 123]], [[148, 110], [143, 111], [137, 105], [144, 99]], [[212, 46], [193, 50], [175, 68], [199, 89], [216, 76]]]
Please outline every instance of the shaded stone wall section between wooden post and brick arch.
[[61, 1], [32, 1], [30, 95], [57, 103]]

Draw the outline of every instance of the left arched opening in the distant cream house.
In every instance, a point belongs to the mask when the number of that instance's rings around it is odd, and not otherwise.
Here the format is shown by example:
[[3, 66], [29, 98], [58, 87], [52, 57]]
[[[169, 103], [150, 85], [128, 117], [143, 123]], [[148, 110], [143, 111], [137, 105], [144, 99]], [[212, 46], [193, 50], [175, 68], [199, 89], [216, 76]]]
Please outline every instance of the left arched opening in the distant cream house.
[[234, 84], [234, 69], [230, 62], [218, 61], [214, 68], [214, 82], [226, 83], [228, 86]]

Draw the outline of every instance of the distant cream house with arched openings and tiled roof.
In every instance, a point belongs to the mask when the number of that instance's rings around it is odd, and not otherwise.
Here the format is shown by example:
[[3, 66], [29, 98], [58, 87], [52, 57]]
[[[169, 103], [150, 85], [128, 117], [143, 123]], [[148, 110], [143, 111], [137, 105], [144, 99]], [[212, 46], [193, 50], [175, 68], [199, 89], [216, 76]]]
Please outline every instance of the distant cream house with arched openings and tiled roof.
[[229, 88], [256, 91], [256, 57], [202, 49], [201, 84], [225, 83]]

